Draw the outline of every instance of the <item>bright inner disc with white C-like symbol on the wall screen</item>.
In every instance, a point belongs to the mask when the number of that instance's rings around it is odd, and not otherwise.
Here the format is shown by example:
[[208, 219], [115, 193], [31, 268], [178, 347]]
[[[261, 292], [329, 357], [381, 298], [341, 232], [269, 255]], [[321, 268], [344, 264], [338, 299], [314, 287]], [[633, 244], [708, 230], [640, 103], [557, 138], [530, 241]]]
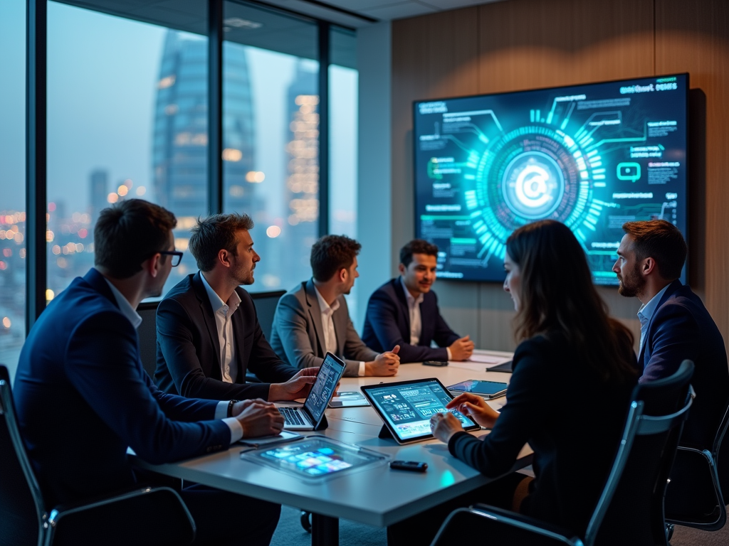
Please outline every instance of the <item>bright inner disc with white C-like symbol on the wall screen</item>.
[[564, 175], [555, 159], [542, 151], [525, 151], [511, 160], [502, 178], [504, 202], [525, 218], [545, 218], [564, 195]]

